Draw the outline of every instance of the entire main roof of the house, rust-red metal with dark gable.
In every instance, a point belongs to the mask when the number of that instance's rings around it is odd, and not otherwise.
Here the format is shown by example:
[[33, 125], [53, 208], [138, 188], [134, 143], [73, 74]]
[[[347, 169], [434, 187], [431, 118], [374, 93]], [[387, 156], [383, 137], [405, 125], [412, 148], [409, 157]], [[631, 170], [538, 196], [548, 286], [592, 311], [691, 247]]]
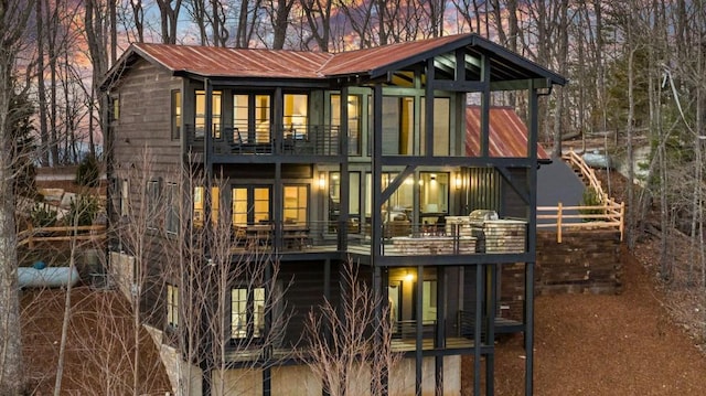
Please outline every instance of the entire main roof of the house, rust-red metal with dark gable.
[[137, 43], [130, 45], [114, 65], [106, 81], [120, 73], [125, 65], [135, 62], [136, 56], [161, 65], [175, 75], [274, 79], [328, 79], [340, 76], [377, 78], [431, 57], [438, 57], [440, 62], [447, 64], [456, 62], [457, 50], [466, 52], [466, 78], [469, 81], [480, 79], [480, 62], [477, 61], [488, 56], [492, 82], [546, 78], [550, 84], [566, 83], [564, 77], [474, 33], [395, 43], [336, 54]]

